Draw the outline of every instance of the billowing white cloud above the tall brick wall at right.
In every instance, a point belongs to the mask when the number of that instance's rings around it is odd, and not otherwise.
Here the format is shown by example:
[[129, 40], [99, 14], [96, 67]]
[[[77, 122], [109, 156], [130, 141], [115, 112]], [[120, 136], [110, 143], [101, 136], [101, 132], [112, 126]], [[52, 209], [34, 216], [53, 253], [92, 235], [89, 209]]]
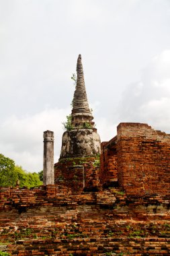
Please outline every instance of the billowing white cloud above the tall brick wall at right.
[[126, 87], [119, 107], [120, 121], [148, 123], [170, 133], [170, 50], [153, 58], [140, 82]]

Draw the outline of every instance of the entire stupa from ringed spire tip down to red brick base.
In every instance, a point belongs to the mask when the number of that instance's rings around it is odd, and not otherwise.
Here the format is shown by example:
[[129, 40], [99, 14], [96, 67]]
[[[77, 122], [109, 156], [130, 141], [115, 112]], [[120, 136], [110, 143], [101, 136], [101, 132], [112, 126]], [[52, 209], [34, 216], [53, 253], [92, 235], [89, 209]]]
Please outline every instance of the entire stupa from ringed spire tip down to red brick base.
[[60, 158], [54, 165], [55, 184], [72, 193], [97, 191], [101, 143], [87, 100], [81, 55], [77, 59], [77, 82], [68, 128], [62, 135]]

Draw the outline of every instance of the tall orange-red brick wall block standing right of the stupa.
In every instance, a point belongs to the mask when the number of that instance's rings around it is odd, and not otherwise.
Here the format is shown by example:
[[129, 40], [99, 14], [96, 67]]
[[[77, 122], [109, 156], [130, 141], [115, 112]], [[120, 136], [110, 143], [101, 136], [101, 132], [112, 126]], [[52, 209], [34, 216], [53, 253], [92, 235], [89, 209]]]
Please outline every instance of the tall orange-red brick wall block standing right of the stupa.
[[118, 183], [129, 195], [170, 192], [170, 135], [146, 124], [120, 123]]

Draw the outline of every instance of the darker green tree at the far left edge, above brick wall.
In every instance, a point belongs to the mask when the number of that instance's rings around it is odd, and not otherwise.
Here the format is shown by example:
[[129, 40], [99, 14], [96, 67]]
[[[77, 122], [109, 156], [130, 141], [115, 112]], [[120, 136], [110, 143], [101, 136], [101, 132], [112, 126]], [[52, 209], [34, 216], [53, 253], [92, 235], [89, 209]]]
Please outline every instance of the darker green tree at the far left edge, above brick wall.
[[15, 186], [17, 173], [15, 172], [15, 162], [10, 158], [0, 154], [0, 186]]

